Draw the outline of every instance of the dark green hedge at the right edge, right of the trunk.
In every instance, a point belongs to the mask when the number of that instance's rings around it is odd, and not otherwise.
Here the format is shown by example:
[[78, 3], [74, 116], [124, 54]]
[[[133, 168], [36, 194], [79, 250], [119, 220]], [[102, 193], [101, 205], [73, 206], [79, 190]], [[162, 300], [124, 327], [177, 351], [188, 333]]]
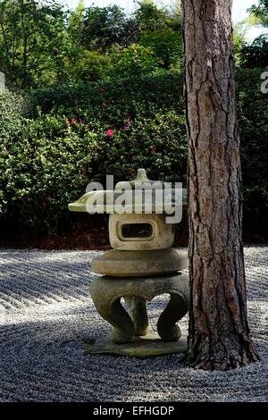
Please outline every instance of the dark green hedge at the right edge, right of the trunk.
[[244, 220], [262, 228], [268, 211], [268, 95], [261, 92], [263, 71], [240, 70], [237, 77]]

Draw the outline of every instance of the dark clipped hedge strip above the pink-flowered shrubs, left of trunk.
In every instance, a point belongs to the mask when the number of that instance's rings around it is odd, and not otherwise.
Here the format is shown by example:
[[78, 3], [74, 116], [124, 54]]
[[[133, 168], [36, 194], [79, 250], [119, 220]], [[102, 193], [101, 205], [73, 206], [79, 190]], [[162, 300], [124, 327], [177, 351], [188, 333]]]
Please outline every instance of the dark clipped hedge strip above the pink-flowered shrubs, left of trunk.
[[125, 113], [134, 113], [137, 105], [142, 106], [147, 115], [152, 114], [152, 107], [154, 110], [174, 109], [180, 114], [184, 110], [183, 76], [177, 71], [157, 71], [133, 79], [125, 75], [120, 80], [106, 83], [35, 89], [31, 90], [30, 96], [36, 115], [38, 110], [69, 116], [85, 110], [107, 122], [112, 110], [123, 118]]

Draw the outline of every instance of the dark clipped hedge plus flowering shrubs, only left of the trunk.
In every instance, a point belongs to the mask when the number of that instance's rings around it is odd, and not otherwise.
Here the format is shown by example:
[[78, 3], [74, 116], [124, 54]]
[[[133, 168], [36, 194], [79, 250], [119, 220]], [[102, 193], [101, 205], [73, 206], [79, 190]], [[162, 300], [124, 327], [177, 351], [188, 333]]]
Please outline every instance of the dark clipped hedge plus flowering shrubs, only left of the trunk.
[[179, 88], [176, 97], [166, 87], [159, 73], [135, 86], [122, 80], [33, 92], [35, 118], [24, 118], [2, 145], [0, 200], [9, 220], [42, 234], [66, 228], [67, 205], [84, 193], [88, 181], [105, 182], [108, 173], [114, 181], [130, 179], [140, 166], [152, 179], [186, 182]]

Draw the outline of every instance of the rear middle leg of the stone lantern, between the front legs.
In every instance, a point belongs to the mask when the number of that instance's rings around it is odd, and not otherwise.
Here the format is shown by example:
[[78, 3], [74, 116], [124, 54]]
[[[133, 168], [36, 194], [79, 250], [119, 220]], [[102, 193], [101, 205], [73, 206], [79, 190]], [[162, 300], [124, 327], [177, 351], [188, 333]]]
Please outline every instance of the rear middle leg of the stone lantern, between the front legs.
[[148, 332], [147, 301], [143, 298], [124, 297], [128, 312], [135, 325], [135, 335], [145, 336]]

